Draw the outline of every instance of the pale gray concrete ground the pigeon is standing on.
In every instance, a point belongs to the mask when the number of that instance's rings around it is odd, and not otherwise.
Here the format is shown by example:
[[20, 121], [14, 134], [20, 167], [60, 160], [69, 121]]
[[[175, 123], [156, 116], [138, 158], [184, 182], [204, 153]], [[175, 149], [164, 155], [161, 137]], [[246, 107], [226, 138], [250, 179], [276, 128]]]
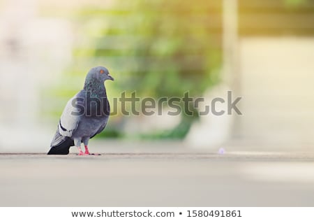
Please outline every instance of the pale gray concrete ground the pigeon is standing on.
[[165, 150], [2, 153], [0, 206], [314, 206], [314, 152]]

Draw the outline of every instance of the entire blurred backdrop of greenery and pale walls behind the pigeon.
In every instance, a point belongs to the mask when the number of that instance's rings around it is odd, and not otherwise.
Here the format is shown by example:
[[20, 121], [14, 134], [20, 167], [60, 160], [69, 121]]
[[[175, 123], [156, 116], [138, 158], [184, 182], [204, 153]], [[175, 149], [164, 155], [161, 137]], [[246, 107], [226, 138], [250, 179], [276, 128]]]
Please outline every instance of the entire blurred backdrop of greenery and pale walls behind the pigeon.
[[[301, 112], [309, 114], [296, 120], [290, 101], [297, 104], [312, 93], [306, 87], [311, 62], [302, 61], [312, 56], [307, 50], [314, 36], [313, 1], [2, 0], [0, 18], [3, 136], [20, 129], [25, 142], [24, 131], [43, 131], [40, 145], [50, 140], [66, 102], [98, 65], [115, 78], [105, 83], [112, 108], [123, 92], [156, 100], [189, 92], [209, 101], [232, 90], [245, 99], [242, 117], [199, 117], [198, 109], [192, 117], [124, 116], [118, 106], [97, 138], [182, 140], [193, 131], [192, 145], [207, 146], [217, 137], [220, 143], [272, 142], [272, 134], [284, 135], [283, 129], [299, 141], [300, 131], [308, 131], [303, 125], [312, 119], [311, 107], [303, 104]], [[290, 94], [292, 87], [299, 88], [299, 97]], [[287, 125], [275, 129], [274, 120]], [[298, 120], [303, 123], [294, 124]], [[195, 125], [200, 127], [193, 130]]]

